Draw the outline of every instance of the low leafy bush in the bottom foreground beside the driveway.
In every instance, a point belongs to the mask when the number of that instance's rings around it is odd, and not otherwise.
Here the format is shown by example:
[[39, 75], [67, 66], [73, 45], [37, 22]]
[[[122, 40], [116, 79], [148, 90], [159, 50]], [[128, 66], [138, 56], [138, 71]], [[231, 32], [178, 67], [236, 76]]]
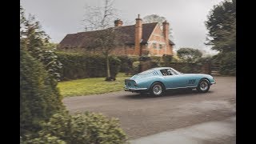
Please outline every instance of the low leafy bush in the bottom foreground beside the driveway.
[[[49, 122], [42, 124], [42, 135], [66, 143], [127, 143], [128, 138], [120, 128], [117, 118], [107, 118], [102, 114], [54, 114]], [[37, 139], [37, 138], [34, 138]], [[46, 141], [47, 138], [41, 138]], [[47, 143], [47, 142], [46, 142]]]

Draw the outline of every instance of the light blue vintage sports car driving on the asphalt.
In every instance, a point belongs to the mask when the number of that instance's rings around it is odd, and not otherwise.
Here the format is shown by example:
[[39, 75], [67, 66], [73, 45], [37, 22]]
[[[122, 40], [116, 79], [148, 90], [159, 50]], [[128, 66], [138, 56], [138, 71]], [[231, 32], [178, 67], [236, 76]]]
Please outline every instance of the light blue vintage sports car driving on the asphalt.
[[197, 89], [206, 93], [215, 80], [209, 74], [183, 74], [171, 67], [158, 67], [135, 74], [125, 80], [125, 90], [137, 93], [150, 92], [159, 96], [165, 90]]

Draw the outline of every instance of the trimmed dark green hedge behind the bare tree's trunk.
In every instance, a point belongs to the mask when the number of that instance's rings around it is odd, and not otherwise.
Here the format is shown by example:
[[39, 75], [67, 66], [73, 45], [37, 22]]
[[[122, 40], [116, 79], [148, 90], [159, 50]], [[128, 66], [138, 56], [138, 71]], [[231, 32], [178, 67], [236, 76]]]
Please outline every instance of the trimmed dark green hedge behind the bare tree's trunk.
[[[62, 62], [59, 71], [61, 80], [78, 78], [106, 77], [106, 58], [99, 54], [78, 54], [57, 52], [58, 60]], [[120, 70], [121, 61], [110, 56], [110, 74], [116, 77]]]

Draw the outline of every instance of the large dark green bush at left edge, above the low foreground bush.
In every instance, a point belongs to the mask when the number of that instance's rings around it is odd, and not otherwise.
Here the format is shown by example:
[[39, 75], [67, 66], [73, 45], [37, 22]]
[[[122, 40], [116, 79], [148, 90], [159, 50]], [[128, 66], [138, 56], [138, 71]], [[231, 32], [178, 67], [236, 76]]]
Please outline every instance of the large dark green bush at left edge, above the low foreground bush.
[[20, 134], [41, 130], [40, 122], [62, 110], [54, 79], [41, 62], [25, 50], [20, 53]]

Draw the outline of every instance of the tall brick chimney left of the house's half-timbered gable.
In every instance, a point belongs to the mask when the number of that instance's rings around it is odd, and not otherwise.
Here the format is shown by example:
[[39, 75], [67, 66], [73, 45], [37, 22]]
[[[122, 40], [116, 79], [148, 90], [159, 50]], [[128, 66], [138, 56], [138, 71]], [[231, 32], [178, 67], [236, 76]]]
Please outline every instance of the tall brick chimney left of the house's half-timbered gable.
[[141, 43], [142, 41], [142, 19], [136, 18], [136, 24], [135, 24], [135, 39], [134, 39], [134, 54], [135, 55], [142, 55], [142, 50], [141, 50]]

